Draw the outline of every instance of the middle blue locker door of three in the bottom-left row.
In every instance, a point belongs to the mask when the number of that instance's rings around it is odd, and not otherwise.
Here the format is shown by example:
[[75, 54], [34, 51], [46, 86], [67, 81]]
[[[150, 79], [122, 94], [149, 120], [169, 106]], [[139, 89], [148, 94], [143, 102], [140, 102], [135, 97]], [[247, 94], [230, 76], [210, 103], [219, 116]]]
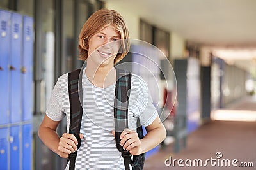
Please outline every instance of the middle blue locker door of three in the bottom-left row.
[[20, 127], [11, 127], [10, 132], [10, 169], [17, 170], [20, 167]]

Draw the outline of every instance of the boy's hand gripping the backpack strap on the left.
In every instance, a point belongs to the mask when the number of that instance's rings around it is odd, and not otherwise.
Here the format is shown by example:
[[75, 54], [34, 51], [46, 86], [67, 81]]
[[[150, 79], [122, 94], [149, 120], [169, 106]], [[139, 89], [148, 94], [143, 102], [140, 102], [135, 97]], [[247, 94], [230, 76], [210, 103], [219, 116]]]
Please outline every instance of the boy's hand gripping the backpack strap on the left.
[[[83, 134], [80, 134], [80, 138], [83, 138]], [[74, 134], [64, 133], [60, 138], [58, 155], [67, 158], [70, 153], [77, 151], [77, 145], [78, 141]]]

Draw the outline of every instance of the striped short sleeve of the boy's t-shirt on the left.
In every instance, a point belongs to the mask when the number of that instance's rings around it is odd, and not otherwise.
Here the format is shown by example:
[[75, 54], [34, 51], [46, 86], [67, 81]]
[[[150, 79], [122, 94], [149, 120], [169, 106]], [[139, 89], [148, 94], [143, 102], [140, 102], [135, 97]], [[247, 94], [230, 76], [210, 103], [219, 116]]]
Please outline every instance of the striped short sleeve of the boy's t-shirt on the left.
[[52, 90], [49, 104], [47, 105], [46, 115], [54, 121], [60, 121], [65, 117], [62, 107], [62, 90], [58, 80]]

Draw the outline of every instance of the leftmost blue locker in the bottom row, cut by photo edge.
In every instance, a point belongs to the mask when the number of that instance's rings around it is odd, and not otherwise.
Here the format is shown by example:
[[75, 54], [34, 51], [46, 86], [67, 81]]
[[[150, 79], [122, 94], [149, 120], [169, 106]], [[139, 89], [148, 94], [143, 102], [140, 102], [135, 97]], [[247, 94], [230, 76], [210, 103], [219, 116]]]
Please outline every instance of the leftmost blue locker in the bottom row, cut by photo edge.
[[0, 169], [8, 169], [8, 129], [0, 128]]

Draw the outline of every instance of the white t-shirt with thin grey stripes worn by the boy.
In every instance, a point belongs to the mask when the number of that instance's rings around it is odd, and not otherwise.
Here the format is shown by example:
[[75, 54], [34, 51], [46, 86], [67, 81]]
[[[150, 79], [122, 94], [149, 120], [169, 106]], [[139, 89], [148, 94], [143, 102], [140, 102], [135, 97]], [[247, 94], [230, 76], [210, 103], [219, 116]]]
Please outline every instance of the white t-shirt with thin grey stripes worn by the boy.
[[[68, 74], [58, 78], [47, 106], [46, 114], [54, 121], [60, 121], [67, 115], [69, 131], [70, 106], [68, 98]], [[114, 96], [115, 83], [106, 88], [93, 85], [83, 71], [83, 118], [81, 123], [81, 147], [76, 157], [75, 169], [124, 169], [124, 160], [116, 148]], [[147, 127], [157, 117], [147, 84], [140, 76], [132, 74], [131, 94], [128, 107], [129, 129], [136, 130], [136, 122]], [[69, 163], [66, 169], [68, 169]]]

